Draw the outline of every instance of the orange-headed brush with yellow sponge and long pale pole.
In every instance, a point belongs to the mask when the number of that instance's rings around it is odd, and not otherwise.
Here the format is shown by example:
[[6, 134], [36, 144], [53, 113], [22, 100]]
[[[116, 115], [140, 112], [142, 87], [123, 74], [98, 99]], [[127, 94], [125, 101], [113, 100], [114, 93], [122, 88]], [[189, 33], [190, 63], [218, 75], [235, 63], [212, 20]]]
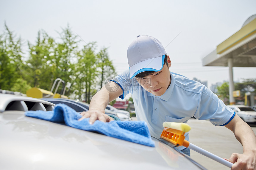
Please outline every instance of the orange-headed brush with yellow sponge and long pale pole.
[[229, 168], [232, 167], [233, 163], [214, 155], [213, 153], [210, 153], [196, 145], [193, 145], [192, 143], [185, 140], [185, 132], [190, 131], [191, 127], [188, 124], [185, 123], [175, 123], [175, 122], [163, 122], [163, 132], [161, 134], [161, 138], [171, 142], [172, 144], [176, 146], [185, 146], [188, 147], [198, 153], [201, 153], [202, 155], [207, 156], [208, 158], [211, 158]]

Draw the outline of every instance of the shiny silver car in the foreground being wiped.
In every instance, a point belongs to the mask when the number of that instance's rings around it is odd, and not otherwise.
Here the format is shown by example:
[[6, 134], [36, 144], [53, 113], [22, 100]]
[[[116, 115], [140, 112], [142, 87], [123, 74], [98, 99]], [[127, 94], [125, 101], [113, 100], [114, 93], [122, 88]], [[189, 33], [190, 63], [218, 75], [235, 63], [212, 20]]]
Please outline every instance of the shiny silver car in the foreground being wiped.
[[205, 169], [152, 137], [155, 147], [24, 116], [52, 110], [54, 104], [0, 94], [0, 169]]

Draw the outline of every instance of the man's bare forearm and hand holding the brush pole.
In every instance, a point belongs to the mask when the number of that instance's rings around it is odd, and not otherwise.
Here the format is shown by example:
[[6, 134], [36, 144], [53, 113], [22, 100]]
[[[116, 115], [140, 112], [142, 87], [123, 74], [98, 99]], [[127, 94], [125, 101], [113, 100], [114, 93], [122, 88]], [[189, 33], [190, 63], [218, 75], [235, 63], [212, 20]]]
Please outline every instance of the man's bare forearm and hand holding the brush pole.
[[233, 153], [228, 161], [235, 163], [232, 170], [256, 169], [256, 137], [252, 128], [239, 116], [225, 125], [234, 132], [236, 139], [243, 145], [243, 154]]

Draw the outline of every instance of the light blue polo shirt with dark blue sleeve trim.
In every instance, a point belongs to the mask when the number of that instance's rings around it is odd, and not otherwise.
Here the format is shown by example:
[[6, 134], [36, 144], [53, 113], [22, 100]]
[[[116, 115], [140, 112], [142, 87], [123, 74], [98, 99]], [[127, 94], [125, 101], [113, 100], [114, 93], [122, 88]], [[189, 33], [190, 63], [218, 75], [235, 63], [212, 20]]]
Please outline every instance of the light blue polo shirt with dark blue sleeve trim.
[[[164, 121], [186, 123], [194, 116], [223, 126], [235, 116], [234, 111], [205, 85], [176, 73], [170, 72], [170, 75], [171, 84], [162, 96], [147, 92], [135, 78], [130, 79], [129, 69], [111, 80], [123, 89], [121, 99], [131, 93], [137, 120], [146, 121], [151, 136], [160, 137]], [[189, 141], [188, 133], [185, 139]]]

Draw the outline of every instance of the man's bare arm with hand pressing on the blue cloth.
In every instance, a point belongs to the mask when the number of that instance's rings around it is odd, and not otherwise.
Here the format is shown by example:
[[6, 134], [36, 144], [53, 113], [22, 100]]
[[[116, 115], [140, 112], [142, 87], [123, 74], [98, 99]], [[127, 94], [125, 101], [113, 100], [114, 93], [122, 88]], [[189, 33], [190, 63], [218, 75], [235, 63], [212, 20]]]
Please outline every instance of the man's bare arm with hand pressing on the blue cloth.
[[[109, 89], [116, 89], [115, 92], [112, 92]], [[106, 85], [97, 92], [90, 102], [90, 107], [87, 112], [82, 112], [82, 118], [79, 119], [81, 121], [84, 118], [90, 118], [90, 124], [93, 124], [96, 120], [103, 121], [103, 122], [110, 122], [113, 121], [113, 118], [107, 116], [105, 114], [105, 108], [107, 107], [108, 103], [115, 100], [123, 94], [123, 90], [113, 81], [108, 82], [107, 88]]]

